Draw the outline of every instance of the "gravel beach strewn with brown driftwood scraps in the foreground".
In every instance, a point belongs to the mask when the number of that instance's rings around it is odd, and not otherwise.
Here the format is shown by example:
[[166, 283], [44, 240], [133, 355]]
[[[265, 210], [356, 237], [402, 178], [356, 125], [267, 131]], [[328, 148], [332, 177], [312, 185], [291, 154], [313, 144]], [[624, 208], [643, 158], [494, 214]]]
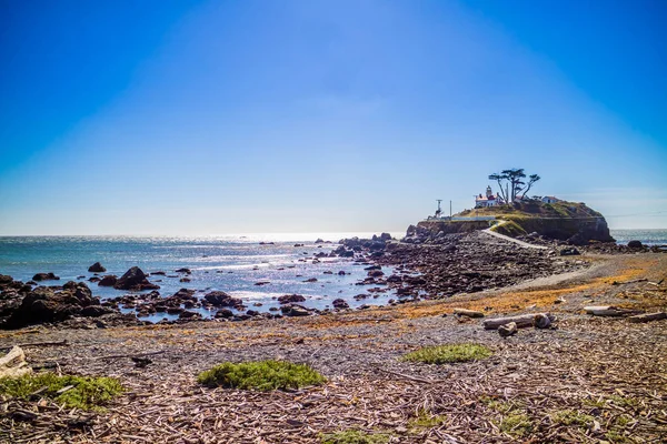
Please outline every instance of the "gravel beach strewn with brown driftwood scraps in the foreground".
[[[0, 442], [319, 443], [321, 433], [341, 430], [382, 432], [392, 443], [660, 442], [667, 436], [667, 321], [591, 319], [580, 307], [593, 300], [665, 309], [665, 285], [625, 282], [665, 278], [667, 255], [587, 259], [596, 264], [554, 280], [328, 316], [2, 332], [0, 346], [66, 339], [67, 347], [27, 347], [28, 360], [115, 376], [127, 392], [83, 430], [59, 421], [64, 413], [56, 407], [23, 403], [38, 418], [0, 418]], [[566, 302], [555, 303], [560, 297]], [[488, 309], [488, 315], [549, 310], [558, 329], [502, 340], [477, 320], [442, 316], [456, 306]], [[401, 361], [420, 346], [458, 342], [495, 354], [465, 364]], [[163, 353], [146, 369], [101, 359], [151, 351]], [[196, 383], [217, 363], [261, 359], [308, 363], [328, 382], [290, 393]]]

